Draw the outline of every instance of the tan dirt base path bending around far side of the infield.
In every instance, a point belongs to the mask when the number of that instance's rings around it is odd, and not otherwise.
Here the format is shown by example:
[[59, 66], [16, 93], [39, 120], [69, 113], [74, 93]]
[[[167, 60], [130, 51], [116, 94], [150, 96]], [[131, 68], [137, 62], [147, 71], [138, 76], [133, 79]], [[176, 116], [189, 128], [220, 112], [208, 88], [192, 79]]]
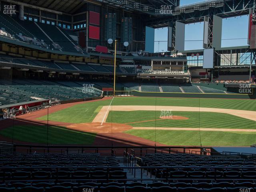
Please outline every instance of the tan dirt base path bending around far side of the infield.
[[112, 111], [194, 111], [194, 112], [216, 112], [226, 113], [246, 119], [256, 121], [256, 111], [235, 110], [235, 109], [219, 109], [204, 107], [179, 107], [179, 106], [140, 106], [140, 105], [118, 105], [103, 106], [92, 122], [106, 122], [108, 113]]

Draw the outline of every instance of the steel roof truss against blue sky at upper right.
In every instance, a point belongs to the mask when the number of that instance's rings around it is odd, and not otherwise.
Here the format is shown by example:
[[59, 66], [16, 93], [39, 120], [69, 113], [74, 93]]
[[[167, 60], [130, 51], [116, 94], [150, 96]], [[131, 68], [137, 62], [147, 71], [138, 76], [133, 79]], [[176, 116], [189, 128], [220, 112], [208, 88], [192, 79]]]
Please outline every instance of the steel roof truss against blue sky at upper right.
[[249, 14], [251, 8], [256, 7], [254, 0], [207, 0], [195, 4], [177, 6], [173, 14], [152, 18], [147, 21], [148, 26], [154, 28], [166, 27], [169, 22], [194, 23], [204, 20], [204, 16], [218, 15], [222, 18]]

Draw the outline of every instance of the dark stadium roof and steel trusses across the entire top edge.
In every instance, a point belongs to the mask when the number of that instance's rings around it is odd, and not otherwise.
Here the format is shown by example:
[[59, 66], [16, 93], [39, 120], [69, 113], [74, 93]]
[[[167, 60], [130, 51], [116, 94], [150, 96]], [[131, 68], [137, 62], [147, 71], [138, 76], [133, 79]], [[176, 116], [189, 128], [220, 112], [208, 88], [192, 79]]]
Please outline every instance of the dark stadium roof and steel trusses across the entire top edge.
[[[180, 0], [5, 0], [30, 4], [73, 14], [86, 3], [98, 3], [121, 8], [131, 12], [140, 12], [153, 17], [147, 21], [154, 28], [168, 26], [169, 22], [181, 21], [192, 23], [202, 21], [204, 16], [214, 14], [220, 17], [232, 17], [248, 14], [250, 8], [256, 7], [254, 0], [206, 0], [194, 4], [179, 6]], [[160, 13], [162, 6], [171, 6], [172, 14]], [[159, 19], [161, 17], [161, 19]]]

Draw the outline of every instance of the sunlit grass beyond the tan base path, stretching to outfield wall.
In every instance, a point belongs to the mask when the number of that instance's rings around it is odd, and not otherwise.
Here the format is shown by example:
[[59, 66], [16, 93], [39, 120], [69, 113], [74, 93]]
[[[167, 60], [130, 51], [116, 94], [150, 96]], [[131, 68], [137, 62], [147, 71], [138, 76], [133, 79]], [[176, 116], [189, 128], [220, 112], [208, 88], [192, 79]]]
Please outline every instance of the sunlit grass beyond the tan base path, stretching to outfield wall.
[[[111, 100], [100, 100], [76, 104], [70, 108], [49, 114], [49, 120], [68, 123], [92, 122], [100, 110], [99, 106], [110, 105]], [[115, 97], [113, 105], [158, 105], [158, 106], [188, 106], [226, 108], [256, 111], [255, 100], [237, 99], [198, 99], [198, 98], [154, 98], [154, 97]], [[39, 118], [47, 120], [47, 116]]]

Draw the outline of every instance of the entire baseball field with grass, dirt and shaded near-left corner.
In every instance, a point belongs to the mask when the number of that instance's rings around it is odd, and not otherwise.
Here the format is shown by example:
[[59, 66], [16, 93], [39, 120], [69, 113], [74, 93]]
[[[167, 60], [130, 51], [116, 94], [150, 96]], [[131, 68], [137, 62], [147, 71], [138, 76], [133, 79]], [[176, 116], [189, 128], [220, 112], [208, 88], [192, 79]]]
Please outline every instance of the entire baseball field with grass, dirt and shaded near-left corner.
[[18, 116], [0, 137], [33, 144], [250, 146], [256, 101], [109, 97]]

